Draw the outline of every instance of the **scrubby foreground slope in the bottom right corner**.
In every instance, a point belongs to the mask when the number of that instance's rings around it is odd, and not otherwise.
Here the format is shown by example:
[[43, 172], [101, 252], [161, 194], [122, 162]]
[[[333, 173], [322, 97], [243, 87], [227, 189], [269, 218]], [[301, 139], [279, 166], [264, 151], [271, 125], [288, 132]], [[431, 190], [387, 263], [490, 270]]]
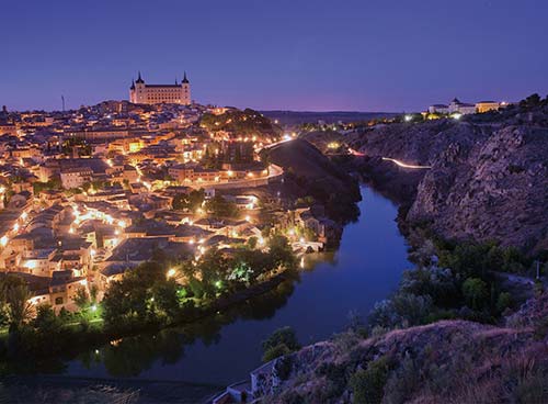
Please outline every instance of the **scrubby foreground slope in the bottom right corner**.
[[367, 339], [339, 335], [278, 359], [283, 378], [273, 371], [262, 402], [546, 402], [547, 315], [545, 296], [501, 327], [443, 321]]

